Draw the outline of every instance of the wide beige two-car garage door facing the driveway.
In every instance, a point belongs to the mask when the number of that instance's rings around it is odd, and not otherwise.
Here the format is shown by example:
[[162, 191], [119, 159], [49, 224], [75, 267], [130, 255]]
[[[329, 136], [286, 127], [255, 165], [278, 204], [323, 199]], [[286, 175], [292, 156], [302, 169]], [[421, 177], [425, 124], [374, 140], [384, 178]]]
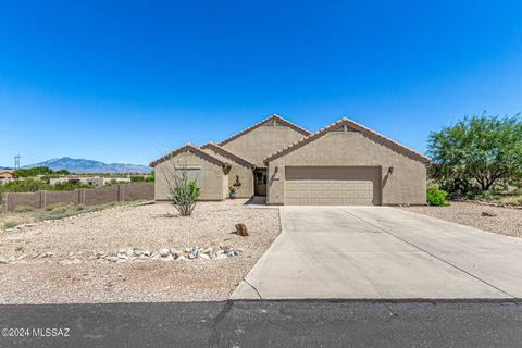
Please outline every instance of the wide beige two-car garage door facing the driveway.
[[290, 166], [285, 169], [285, 204], [378, 206], [378, 166]]

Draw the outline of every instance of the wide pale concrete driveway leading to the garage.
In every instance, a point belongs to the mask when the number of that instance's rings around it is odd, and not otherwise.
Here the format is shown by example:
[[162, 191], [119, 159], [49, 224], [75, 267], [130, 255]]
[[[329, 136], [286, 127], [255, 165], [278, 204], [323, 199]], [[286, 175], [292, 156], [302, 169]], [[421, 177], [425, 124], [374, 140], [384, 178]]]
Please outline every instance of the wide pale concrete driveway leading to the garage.
[[282, 207], [233, 299], [521, 298], [522, 239], [387, 207]]

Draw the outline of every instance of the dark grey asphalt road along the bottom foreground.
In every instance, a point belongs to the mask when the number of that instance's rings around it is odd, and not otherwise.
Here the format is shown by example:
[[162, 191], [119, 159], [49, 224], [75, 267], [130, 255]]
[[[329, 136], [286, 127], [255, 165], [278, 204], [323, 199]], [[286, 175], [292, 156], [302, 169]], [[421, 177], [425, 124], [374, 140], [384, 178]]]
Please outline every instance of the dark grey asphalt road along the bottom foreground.
[[0, 306], [0, 347], [520, 347], [522, 303], [228, 301]]

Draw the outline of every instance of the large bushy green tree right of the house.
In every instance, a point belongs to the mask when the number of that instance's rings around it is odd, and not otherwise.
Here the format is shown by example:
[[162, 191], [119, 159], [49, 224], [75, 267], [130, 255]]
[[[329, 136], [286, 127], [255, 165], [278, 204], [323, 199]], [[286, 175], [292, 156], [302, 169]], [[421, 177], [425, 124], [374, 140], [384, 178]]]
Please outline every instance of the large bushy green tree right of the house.
[[482, 190], [499, 182], [522, 177], [522, 120], [514, 116], [464, 117], [457, 124], [433, 132], [428, 138], [433, 160], [431, 175], [476, 183]]

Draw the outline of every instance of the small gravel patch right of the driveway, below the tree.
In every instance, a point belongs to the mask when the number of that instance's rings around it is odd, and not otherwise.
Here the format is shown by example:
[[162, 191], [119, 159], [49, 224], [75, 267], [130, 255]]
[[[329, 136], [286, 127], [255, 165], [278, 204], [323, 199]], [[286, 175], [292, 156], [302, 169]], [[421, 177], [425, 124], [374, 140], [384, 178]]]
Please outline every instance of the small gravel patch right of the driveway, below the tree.
[[[468, 202], [451, 202], [449, 207], [403, 207], [401, 209], [500, 235], [522, 237], [522, 210], [520, 209]], [[484, 216], [483, 212], [495, 216]]]

